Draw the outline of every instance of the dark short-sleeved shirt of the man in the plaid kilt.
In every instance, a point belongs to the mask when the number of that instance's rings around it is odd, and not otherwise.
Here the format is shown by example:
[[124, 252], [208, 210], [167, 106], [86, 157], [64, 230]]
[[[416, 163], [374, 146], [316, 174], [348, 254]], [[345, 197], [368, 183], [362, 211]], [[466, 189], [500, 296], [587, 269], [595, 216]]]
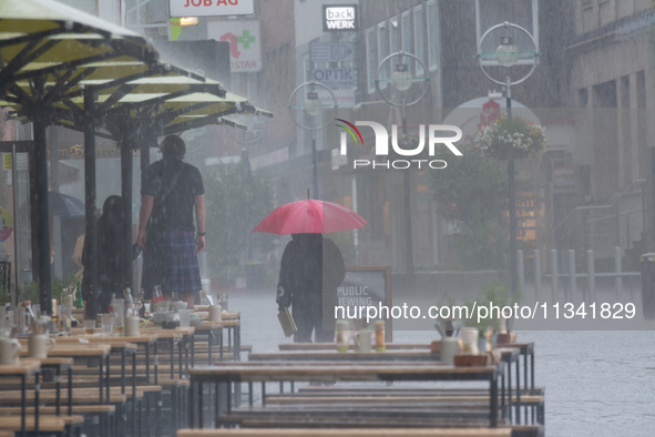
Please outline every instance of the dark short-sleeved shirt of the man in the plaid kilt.
[[157, 161], [147, 169], [141, 194], [154, 197], [151, 228], [156, 232], [195, 231], [195, 197], [205, 194], [198, 169], [176, 157]]

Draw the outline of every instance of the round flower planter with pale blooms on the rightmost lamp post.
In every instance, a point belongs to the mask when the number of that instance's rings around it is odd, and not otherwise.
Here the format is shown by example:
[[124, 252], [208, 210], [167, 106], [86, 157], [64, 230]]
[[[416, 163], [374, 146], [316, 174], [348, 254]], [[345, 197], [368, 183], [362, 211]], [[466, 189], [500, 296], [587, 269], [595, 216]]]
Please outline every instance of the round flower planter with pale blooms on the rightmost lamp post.
[[522, 118], [505, 115], [482, 126], [471, 143], [485, 155], [497, 160], [519, 160], [532, 152], [542, 152], [546, 144], [545, 130]]

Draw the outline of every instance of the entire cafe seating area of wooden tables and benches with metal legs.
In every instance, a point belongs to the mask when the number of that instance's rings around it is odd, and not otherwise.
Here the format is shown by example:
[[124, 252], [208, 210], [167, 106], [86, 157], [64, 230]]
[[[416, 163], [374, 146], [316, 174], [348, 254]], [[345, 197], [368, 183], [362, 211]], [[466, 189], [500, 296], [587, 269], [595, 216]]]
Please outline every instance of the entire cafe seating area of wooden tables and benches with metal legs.
[[[195, 312], [205, 316], [206, 309]], [[441, 362], [439, 342], [388, 343], [385, 352], [359, 352], [352, 344], [339, 352], [335, 343], [253, 350], [240, 345], [239, 312], [187, 328], [149, 323], [139, 335], [103, 335], [101, 325], [95, 331], [51, 335], [45, 358], [30, 357], [29, 336], [19, 336], [18, 362], [0, 365], [0, 431], [209, 437], [544, 430], [545, 390], [528, 366], [534, 363], [531, 343], [499, 345], [484, 365], [453, 366]]]

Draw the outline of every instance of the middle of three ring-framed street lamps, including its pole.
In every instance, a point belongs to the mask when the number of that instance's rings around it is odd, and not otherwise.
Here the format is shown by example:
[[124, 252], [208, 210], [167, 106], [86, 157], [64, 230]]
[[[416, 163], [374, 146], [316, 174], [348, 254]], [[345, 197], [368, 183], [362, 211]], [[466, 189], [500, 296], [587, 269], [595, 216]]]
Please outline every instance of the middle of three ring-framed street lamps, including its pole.
[[[380, 79], [380, 73], [382, 71], [383, 68], [386, 68], [386, 63], [389, 62], [391, 59], [393, 58], [399, 58], [399, 62], [396, 64], [396, 71], [393, 72], [393, 74], [391, 74], [391, 79]], [[378, 65], [378, 73], [377, 73], [377, 78], [376, 78], [376, 89], [378, 90], [378, 93], [380, 94], [380, 96], [382, 98], [382, 100], [385, 100], [387, 103], [389, 103], [392, 106], [397, 106], [401, 109], [401, 116], [402, 116], [402, 134], [407, 135], [407, 115], [406, 115], [406, 110], [408, 106], [413, 106], [415, 104], [417, 104], [418, 102], [420, 102], [423, 96], [426, 96], [426, 94], [428, 93], [428, 85], [427, 82], [430, 80], [429, 77], [426, 78], [413, 78], [411, 72], [409, 71], [409, 68], [407, 65], [406, 58], [410, 58], [413, 59], [415, 61], [417, 61], [418, 63], [421, 64], [421, 68], [423, 69], [423, 71], [428, 71], [428, 69], [426, 68], [426, 64], [417, 57], [415, 57], [411, 53], [407, 53], [405, 51], [399, 51], [396, 53], [391, 53], [389, 54], [387, 58], [382, 59], [382, 61], [380, 61], [380, 64]], [[401, 99], [400, 99], [400, 103], [398, 102], [393, 102], [390, 99], [387, 99], [387, 96], [385, 96], [385, 94], [382, 93], [382, 91], [380, 90], [380, 82], [391, 82], [391, 85], [400, 91], [401, 93], [405, 93], [406, 91], [408, 91], [411, 85], [413, 84], [413, 82], [426, 82], [424, 87], [423, 87], [423, 91], [420, 93], [420, 95], [413, 100], [413, 101], [407, 101], [405, 98], [405, 94], [402, 94]], [[406, 257], [407, 257], [407, 275], [409, 278], [410, 284], [413, 285], [413, 242], [412, 242], [412, 232], [411, 232], [411, 189], [410, 189], [410, 172], [409, 171], [405, 171], [403, 174], [403, 179], [402, 179], [402, 185], [403, 185], [403, 191], [405, 191], [405, 230], [406, 230], [406, 235], [405, 235], [405, 240], [407, 241], [406, 243]]]

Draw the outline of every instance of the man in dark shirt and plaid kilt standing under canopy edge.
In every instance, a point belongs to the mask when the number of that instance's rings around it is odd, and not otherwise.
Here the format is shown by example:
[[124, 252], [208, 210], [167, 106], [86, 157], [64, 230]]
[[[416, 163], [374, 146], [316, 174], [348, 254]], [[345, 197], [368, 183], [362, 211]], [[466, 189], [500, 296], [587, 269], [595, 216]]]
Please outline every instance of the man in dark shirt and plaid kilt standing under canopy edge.
[[149, 167], [141, 187], [137, 243], [144, 248], [142, 286], [145, 298], [161, 285], [165, 299], [180, 293], [193, 308], [193, 293], [202, 289], [197, 254], [205, 250], [203, 177], [198, 169], [182, 161], [186, 146], [180, 136], [166, 136], [161, 149], [162, 160]]

